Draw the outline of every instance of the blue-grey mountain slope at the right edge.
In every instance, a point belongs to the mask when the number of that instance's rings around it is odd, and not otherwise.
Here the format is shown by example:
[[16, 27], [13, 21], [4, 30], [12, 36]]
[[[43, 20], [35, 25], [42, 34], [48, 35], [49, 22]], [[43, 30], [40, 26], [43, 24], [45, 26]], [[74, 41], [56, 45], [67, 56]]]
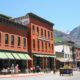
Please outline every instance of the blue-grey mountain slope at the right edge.
[[80, 26], [74, 28], [69, 36], [72, 38], [72, 40], [76, 43], [80, 45]]

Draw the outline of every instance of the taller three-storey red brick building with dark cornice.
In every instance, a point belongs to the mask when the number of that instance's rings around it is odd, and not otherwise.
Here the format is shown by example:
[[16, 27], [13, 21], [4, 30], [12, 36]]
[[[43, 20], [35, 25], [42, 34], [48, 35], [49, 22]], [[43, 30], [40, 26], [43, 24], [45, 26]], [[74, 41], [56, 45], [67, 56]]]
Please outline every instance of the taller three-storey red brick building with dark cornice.
[[28, 13], [14, 19], [15, 22], [28, 26], [28, 52], [32, 58], [29, 67], [39, 66], [53, 68], [54, 43], [53, 23], [33, 14]]

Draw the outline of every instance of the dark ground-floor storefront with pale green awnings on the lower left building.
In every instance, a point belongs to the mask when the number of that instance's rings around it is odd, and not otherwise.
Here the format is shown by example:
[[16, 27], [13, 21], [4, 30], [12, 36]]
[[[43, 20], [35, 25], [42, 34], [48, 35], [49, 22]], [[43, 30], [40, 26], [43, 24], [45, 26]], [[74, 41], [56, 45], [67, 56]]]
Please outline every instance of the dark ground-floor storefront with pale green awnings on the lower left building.
[[16, 65], [19, 66], [20, 72], [23, 69], [28, 68], [28, 60], [31, 60], [30, 56], [26, 53], [16, 53], [16, 52], [0, 52], [0, 70], [11, 68], [12, 64], [14, 68]]

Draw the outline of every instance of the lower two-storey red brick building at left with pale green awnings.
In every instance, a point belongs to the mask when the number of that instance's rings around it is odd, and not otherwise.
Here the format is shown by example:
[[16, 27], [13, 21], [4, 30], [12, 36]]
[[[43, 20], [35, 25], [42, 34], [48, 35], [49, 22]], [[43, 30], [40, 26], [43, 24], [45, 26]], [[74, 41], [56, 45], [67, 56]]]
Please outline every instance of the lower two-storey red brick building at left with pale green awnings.
[[0, 69], [11, 67], [12, 64], [18, 64], [21, 70], [23, 66], [27, 67], [23, 64], [30, 59], [27, 54], [27, 31], [26, 26], [0, 15]]

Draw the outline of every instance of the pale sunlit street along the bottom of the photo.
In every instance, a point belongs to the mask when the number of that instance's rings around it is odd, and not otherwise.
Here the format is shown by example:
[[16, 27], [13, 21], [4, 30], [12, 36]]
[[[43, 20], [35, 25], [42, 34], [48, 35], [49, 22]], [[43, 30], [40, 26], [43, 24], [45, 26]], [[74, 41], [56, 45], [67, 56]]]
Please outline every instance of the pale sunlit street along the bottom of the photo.
[[23, 76], [15, 76], [12, 75], [11, 77], [2, 77], [0, 80], [80, 80], [80, 72], [75, 71], [73, 76], [64, 75], [60, 76], [57, 72], [56, 74], [53, 73], [34, 73], [31, 75], [23, 75]]

